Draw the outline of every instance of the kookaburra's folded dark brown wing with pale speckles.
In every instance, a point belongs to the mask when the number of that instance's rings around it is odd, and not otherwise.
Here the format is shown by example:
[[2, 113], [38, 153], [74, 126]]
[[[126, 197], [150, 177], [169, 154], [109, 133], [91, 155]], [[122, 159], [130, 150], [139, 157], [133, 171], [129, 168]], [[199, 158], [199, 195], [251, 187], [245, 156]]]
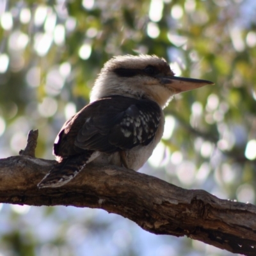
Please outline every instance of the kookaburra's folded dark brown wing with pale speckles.
[[152, 100], [112, 96], [97, 100], [70, 118], [54, 145], [57, 156], [95, 150], [107, 154], [148, 145], [161, 118], [161, 109]]

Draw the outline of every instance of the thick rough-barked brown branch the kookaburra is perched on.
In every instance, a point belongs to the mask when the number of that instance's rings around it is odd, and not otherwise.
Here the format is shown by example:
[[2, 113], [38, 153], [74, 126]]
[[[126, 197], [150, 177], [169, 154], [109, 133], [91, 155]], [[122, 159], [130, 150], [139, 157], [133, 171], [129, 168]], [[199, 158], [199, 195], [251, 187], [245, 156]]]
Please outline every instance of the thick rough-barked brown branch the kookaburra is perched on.
[[[33, 139], [32, 135], [28, 145], [35, 151], [32, 142], [36, 136]], [[38, 189], [36, 184], [54, 161], [33, 157], [31, 148], [21, 154], [0, 159], [0, 202], [100, 208], [129, 218], [154, 234], [188, 236], [229, 252], [256, 255], [255, 205], [221, 200], [203, 190], [182, 189], [143, 173], [95, 164], [88, 164], [63, 187]]]

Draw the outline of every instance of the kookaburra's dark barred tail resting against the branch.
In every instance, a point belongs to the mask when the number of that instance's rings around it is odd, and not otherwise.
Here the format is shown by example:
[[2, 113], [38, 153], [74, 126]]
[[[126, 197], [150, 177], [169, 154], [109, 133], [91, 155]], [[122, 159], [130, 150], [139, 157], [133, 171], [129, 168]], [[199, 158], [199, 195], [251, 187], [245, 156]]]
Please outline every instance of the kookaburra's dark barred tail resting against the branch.
[[54, 164], [51, 171], [38, 183], [38, 188], [56, 188], [72, 180], [91, 160], [92, 151], [88, 150], [86, 153], [63, 158]]

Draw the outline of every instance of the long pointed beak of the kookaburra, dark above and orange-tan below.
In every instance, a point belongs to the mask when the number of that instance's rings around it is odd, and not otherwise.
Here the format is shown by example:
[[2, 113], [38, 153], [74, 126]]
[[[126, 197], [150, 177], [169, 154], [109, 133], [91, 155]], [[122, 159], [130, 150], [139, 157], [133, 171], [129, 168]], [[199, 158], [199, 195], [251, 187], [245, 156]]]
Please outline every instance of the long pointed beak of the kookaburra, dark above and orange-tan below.
[[207, 81], [207, 80], [177, 77], [177, 76], [161, 77], [161, 83], [166, 84], [167, 86], [170, 86], [170, 88], [172, 88], [175, 91], [175, 93], [194, 90], [196, 88], [205, 86], [206, 84], [214, 84], [211, 81]]

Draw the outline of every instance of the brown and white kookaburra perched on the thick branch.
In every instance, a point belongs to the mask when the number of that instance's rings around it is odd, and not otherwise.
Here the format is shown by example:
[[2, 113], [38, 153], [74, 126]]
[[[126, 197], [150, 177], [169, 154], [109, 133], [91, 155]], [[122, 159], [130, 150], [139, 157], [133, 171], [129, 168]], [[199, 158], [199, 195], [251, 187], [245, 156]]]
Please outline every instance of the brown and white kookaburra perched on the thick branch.
[[63, 186], [90, 162], [138, 171], [163, 136], [163, 109], [173, 96], [206, 84], [214, 83], [175, 76], [155, 55], [111, 58], [95, 80], [90, 103], [58, 133], [57, 162], [38, 188]]

